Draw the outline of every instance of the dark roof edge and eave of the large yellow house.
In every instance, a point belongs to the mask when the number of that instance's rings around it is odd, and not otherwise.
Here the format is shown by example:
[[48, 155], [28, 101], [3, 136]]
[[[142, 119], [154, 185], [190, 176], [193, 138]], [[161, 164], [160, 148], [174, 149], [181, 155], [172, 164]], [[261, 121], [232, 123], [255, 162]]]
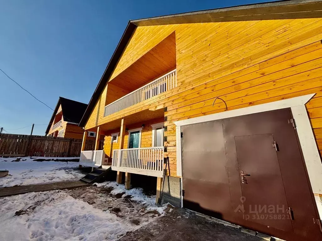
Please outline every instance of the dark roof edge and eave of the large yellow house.
[[101, 77], [79, 126], [84, 126], [137, 26], [322, 17], [322, 0], [290, 0], [130, 20]]

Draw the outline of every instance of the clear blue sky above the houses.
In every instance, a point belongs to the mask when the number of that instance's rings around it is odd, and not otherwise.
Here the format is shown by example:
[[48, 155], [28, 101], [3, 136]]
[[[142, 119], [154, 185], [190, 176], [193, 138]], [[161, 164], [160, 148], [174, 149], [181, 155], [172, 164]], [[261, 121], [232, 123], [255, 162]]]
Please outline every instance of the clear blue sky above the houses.
[[[0, 0], [0, 68], [54, 109], [58, 97], [88, 103], [128, 20], [260, 0]], [[0, 126], [44, 135], [52, 110], [0, 73]]]

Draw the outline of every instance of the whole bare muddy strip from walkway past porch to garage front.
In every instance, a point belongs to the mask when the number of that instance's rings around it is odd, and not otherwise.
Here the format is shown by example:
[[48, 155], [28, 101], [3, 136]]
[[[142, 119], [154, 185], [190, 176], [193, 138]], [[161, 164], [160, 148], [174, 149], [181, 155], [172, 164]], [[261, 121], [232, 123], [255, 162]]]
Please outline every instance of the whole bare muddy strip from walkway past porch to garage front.
[[[112, 188], [97, 186], [80, 187], [64, 190], [74, 198], [88, 202], [93, 207], [109, 210], [118, 217], [128, 219], [132, 224], [140, 226], [136, 231], [128, 232], [121, 241], [260, 241], [262, 239], [242, 233], [239, 229], [208, 221], [195, 215], [194, 212], [168, 207], [163, 217], [153, 210], [147, 211], [144, 205], [130, 201], [130, 196], [122, 198], [121, 194], [112, 195]], [[151, 217], [153, 217], [151, 222]]]

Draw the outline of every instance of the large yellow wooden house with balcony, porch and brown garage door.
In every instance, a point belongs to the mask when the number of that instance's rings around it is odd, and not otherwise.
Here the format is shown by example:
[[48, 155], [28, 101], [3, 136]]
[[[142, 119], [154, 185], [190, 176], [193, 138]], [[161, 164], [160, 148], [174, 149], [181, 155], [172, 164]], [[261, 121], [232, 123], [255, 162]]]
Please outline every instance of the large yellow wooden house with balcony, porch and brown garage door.
[[105, 136], [104, 150], [80, 164], [107, 155], [126, 188], [143, 174], [160, 190], [168, 157], [166, 200], [321, 239], [321, 41], [321, 1], [130, 21], [80, 122]]

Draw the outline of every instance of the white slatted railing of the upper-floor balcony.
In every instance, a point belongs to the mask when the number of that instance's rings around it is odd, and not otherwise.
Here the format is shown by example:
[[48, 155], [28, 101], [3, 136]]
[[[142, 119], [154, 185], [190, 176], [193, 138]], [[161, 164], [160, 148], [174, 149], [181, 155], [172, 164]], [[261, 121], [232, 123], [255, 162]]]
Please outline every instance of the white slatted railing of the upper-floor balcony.
[[177, 87], [176, 69], [105, 106], [104, 117]]

